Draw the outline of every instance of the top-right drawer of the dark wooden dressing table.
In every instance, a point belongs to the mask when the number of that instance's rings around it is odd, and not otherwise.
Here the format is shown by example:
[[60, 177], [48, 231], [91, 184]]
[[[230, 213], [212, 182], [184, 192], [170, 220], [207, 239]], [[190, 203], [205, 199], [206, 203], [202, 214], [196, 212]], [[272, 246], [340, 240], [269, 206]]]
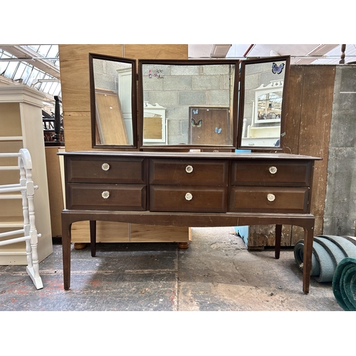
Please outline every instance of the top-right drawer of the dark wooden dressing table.
[[310, 187], [312, 169], [310, 161], [234, 161], [231, 185]]

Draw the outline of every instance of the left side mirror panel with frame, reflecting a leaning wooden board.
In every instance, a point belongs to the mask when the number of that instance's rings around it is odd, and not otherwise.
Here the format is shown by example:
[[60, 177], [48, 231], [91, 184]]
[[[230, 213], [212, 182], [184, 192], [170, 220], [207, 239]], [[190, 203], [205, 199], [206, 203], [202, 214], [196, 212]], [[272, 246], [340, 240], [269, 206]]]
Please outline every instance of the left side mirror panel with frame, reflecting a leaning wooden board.
[[135, 60], [89, 53], [93, 147], [137, 147]]

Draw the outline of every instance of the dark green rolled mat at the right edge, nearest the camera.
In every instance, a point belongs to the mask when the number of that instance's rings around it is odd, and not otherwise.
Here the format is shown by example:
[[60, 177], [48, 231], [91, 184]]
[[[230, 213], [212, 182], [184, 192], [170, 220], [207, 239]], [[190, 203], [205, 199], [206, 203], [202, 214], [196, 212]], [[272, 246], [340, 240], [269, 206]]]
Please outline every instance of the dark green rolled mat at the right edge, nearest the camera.
[[343, 310], [356, 311], [356, 258], [346, 257], [337, 265], [333, 293]]

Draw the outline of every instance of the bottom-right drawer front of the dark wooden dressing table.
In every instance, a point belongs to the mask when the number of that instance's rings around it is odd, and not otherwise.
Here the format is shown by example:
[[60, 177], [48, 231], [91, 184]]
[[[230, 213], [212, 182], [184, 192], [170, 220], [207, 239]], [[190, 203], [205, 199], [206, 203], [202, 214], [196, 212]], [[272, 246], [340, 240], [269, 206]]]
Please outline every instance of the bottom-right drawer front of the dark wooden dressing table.
[[308, 213], [308, 188], [231, 187], [229, 211]]

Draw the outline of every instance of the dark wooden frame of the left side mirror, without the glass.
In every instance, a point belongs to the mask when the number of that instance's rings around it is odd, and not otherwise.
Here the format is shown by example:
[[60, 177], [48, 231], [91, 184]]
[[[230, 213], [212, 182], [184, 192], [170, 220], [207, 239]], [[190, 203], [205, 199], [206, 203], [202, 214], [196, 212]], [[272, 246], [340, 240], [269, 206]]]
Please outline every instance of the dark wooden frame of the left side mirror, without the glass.
[[[131, 82], [131, 110], [132, 110], [132, 145], [98, 145], [96, 142], [96, 102], [95, 102], [95, 81], [93, 60], [100, 59], [103, 61], [130, 63], [132, 65], [132, 82]], [[98, 53], [89, 53], [89, 85], [90, 85], [90, 119], [91, 119], [91, 137], [93, 148], [137, 148], [137, 71], [136, 61], [129, 58], [107, 56]]]

